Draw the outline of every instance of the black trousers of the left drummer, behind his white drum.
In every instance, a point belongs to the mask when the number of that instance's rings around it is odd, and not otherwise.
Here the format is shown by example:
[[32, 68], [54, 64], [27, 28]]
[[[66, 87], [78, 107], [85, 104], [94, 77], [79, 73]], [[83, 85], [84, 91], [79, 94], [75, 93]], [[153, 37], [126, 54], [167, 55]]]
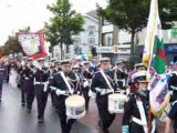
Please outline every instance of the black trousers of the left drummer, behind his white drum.
[[65, 111], [65, 99], [67, 96], [61, 95], [59, 96], [59, 117], [60, 117], [60, 124], [61, 124], [61, 129], [62, 129], [62, 133], [70, 133], [72, 125], [74, 124], [74, 122], [76, 120], [74, 119], [70, 119], [67, 120], [66, 116], [66, 111]]

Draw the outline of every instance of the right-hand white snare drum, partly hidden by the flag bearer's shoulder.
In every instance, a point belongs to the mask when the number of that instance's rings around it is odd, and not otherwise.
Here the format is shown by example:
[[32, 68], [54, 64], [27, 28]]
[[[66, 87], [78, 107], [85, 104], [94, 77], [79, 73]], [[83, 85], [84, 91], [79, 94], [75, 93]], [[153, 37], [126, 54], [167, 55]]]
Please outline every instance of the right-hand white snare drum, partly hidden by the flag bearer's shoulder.
[[111, 113], [123, 113], [124, 102], [126, 101], [126, 95], [124, 94], [110, 94], [108, 95], [108, 111]]

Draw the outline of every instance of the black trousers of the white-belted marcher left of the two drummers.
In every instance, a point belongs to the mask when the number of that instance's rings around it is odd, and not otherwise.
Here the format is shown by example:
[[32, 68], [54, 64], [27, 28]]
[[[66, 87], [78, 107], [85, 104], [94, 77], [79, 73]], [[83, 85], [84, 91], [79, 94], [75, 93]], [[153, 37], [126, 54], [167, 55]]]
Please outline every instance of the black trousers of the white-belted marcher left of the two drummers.
[[35, 88], [35, 96], [37, 96], [37, 105], [38, 105], [38, 119], [44, 119], [44, 110], [48, 101], [48, 92], [43, 91], [44, 85], [37, 84]]

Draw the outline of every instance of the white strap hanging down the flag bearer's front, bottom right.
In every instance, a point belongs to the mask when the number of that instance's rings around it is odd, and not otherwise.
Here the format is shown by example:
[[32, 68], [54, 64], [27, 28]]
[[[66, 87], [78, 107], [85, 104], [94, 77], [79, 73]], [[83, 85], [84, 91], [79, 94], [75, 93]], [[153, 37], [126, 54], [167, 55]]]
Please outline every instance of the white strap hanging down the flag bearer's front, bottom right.
[[148, 131], [148, 129], [147, 129], [147, 120], [146, 120], [146, 114], [145, 114], [145, 110], [144, 110], [144, 106], [143, 106], [143, 102], [136, 100], [136, 104], [137, 104], [137, 108], [139, 110], [140, 121], [142, 121], [142, 125], [143, 125], [144, 132], [147, 133], [147, 131]]

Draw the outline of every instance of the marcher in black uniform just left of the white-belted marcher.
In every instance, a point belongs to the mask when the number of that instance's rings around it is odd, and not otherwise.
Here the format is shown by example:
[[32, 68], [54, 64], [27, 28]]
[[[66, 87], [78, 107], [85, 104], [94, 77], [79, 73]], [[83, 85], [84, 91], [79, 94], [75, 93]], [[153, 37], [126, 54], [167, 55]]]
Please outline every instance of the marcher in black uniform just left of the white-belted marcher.
[[32, 65], [31, 58], [27, 59], [27, 65], [24, 66], [22, 74], [23, 74], [23, 89], [25, 91], [25, 103], [27, 110], [30, 113], [32, 109], [32, 103], [34, 100], [34, 83], [33, 83], [33, 73], [34, 66]]

